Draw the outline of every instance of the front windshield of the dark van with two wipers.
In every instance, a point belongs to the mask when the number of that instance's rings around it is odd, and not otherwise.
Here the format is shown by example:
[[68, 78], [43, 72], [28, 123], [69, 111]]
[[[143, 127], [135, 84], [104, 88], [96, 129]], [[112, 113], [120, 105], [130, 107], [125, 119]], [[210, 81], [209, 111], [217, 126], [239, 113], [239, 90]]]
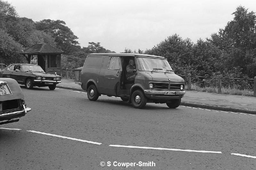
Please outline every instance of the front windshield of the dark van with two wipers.
[[172, 71], [172, 67], [167, 60], [156, 59], [156, 58], [142, 58], [136, 59], [138, 70], [140, 71]]

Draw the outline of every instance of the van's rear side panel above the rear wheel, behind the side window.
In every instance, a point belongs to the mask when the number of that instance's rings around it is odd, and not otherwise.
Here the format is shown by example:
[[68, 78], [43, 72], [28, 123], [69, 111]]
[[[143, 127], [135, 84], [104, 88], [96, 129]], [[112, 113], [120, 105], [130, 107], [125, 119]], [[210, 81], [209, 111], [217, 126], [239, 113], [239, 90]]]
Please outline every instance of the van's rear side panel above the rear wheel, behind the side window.
[[[81, 71], [81, 82], [83, 83], [81, 88], [87, 90], [87, 83], [90, 79], [97, 82], [100, 75], [100, 67], [103, 61], [103, 56], [87, 56], [84, 67]], [[95, 84], [98, 88], [98, 84]]]

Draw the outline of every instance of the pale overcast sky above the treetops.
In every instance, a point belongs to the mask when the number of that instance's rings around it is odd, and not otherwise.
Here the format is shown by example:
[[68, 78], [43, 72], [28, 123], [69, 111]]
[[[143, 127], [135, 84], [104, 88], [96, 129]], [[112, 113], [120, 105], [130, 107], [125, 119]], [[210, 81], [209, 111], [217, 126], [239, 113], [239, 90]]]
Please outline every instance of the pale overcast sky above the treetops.
[[177, 33], [194, 43], [225, 28], [239, 5], [256, 12], [256, 0], [4, 0], [20, 17], [63, 20], [81, 47], [146, 50]]

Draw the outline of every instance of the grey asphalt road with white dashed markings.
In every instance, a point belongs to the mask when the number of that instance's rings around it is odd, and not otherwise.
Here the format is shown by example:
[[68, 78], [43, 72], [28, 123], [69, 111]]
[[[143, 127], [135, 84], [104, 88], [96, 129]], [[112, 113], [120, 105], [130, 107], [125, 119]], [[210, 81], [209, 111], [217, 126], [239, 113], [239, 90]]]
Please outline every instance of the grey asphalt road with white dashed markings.
[[256, 169], [255, 115], [21, 87], [32, 111], [0, 126], [0, 169]]

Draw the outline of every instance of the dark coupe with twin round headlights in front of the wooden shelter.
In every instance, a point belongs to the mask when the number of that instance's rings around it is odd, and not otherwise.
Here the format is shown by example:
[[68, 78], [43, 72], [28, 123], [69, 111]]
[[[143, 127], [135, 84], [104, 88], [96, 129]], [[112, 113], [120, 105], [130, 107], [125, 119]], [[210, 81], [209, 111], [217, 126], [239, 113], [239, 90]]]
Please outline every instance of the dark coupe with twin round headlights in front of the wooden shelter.
[[0, 71], [0, 77], [15, 79], [27, 89], [38, 86], [54, 90], [56, 84], [61, 82], [59, 75], [45, 73], [40, 66], [34, 64], [11, 64]]

